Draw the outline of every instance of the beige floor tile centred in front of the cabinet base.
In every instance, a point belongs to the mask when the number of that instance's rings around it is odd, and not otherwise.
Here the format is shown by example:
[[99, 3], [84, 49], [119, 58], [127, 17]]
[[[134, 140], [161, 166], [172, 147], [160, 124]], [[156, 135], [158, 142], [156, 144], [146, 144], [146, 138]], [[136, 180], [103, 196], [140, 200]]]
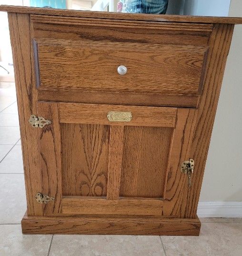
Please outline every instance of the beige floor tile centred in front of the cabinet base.
[[54, 235], [50, 256], [164, 256], [159, 236]]

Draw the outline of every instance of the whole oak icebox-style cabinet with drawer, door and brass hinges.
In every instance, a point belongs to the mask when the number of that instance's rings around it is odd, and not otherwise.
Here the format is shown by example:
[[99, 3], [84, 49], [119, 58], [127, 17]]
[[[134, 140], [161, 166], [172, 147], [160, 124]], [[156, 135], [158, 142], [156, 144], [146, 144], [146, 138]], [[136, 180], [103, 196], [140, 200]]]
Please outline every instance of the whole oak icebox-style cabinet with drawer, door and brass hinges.
[[0, 10], [18, 96], [23, 233], [199, 235], [212, 124], [242, 19]]

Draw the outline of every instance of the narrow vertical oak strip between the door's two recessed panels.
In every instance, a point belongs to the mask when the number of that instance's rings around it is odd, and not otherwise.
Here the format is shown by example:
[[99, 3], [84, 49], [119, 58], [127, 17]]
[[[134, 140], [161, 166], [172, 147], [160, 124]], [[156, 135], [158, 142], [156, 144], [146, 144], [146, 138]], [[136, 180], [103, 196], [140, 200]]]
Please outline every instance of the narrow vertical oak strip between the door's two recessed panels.
[[107, 199], [117, 200], [120, 196], [120, 180], [123, 158], [123, 126], [110, 127], [109, 171]]

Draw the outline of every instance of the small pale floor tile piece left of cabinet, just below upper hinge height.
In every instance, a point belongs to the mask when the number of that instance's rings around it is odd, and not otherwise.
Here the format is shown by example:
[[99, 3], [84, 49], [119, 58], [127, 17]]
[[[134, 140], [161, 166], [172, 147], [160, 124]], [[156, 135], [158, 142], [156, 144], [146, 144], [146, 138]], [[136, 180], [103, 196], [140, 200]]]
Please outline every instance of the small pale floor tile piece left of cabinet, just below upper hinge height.
[[0, 145], [14, 145], [19, 139], [19, 127], [0, 127]]

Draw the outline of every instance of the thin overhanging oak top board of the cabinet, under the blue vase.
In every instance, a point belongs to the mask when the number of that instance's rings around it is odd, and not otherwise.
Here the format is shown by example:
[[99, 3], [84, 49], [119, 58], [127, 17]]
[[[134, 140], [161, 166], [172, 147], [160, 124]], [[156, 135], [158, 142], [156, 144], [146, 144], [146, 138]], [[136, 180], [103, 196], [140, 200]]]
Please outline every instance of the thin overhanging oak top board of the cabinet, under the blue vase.
[[120, 13], [104, 11], [82, 11], [63, 10], [50, 8], [36, 8], [23, 6], [0, 5], [0, 11], [29, 13], [40, 15], [55, 15], [80, 18], [100, 18], [115, 20], [146, 20], [146, 21], [166, 21], [166, 22], [189, 22], [189, 23], [226, 23], [242, 24], [242, 17], [206, 17], [206, 16], [185, 16], [185, 15], [163, 15], [163, 14], [143, 14], [143, 13]]

